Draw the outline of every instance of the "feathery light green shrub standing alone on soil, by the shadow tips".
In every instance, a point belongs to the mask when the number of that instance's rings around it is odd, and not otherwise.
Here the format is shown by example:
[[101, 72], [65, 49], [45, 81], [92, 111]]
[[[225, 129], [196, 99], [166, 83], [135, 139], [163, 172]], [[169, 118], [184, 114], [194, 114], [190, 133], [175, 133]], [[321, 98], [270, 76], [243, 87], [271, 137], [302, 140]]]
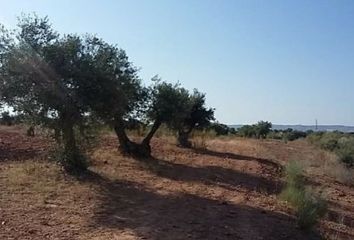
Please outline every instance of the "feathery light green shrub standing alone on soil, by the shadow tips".
[[327, 203], [320, 195], [305, 187], [303, 169], [299, 163], [290, 162], [285, 176], [286, 186], [281, 198], [294, 208], [299, 227], [310, 230], [325, 215]]

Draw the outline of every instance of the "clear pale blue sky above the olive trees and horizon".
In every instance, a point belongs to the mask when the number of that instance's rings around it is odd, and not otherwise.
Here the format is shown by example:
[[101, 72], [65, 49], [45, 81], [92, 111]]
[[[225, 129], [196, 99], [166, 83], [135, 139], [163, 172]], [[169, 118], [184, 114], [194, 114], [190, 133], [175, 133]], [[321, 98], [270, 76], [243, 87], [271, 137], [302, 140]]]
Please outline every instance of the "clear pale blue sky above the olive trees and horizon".
[[48, 15], [207, 94], [220, 122], [354, 125], [354, 1], [2, 1], [0, 22]]

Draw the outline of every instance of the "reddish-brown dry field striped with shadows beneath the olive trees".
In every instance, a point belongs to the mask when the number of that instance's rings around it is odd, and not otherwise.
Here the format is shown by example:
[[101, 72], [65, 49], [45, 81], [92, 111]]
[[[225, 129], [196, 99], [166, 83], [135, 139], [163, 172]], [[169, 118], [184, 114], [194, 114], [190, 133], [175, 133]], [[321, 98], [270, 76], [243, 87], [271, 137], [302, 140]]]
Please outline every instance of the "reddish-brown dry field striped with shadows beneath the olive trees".
[[[193, 150], [161, 136], [139, 161], [107, 134], [81, 177], [48, 161], [50, 146], [0, 128], [0, 239], [354, 239], [352, 176], [305, 140], [214, 138]], [[329, 203], [312, 232], [278, 197], [292, 160]]]

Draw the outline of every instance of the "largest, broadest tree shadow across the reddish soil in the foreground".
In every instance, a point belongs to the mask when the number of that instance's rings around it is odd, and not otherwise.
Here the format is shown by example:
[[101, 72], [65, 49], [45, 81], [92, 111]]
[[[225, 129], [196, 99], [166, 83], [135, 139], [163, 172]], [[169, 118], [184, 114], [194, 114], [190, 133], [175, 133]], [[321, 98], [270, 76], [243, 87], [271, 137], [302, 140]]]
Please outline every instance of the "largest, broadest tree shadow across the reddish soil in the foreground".
[[89, 181], [100, 191], [90, 227], [111, 229], [119, 236], [133, 232], [138, 239], [150, 240], [320, 239], [317, 233], [301, 232], [293, 218], [281, 213], [178, 192], [162, 195], [94, 173]]

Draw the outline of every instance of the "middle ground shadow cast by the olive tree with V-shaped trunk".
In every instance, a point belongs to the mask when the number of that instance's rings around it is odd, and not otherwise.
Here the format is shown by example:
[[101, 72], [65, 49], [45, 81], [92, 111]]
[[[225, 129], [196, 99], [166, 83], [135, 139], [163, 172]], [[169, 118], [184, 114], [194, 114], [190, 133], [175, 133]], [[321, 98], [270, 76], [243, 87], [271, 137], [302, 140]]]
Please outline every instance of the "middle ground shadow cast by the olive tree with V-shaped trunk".
[[152, 158], [144, 166], [157, 176], [183, 182], [199, 182], [206, 185], [223, 187], [228, 190], [256, 191], [277, 194], [282, 184], [276, 179], [267, 179], [245, 172], [220, 166], [188, 166], [170, 161]]

